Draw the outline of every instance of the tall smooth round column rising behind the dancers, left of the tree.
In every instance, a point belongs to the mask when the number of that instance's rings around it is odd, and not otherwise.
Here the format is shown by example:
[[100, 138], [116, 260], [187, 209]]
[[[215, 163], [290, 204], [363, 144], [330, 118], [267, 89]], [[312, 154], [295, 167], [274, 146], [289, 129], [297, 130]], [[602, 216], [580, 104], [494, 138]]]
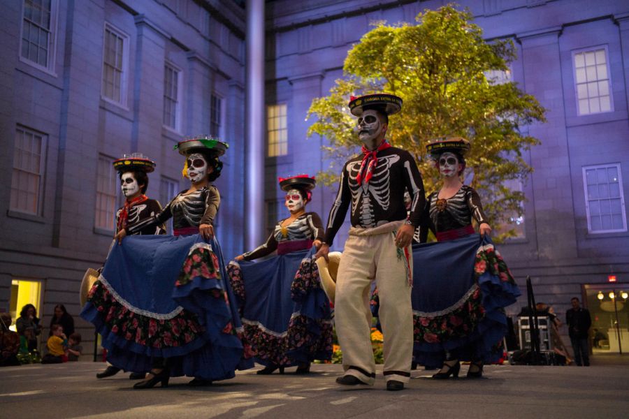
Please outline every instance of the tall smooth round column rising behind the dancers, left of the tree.
[[245, 247], [263, 242], [264, 230], [264, 2], [247, 0], [245, 133]]

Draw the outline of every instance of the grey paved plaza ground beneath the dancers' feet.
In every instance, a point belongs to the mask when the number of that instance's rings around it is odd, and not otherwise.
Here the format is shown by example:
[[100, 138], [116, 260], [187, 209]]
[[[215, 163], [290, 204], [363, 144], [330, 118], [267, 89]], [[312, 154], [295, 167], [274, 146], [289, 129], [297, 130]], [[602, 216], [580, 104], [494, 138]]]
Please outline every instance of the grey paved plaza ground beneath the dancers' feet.
[[[0, 369], [0, 418], [628, 418], [629, 356], [592, 367], [493, 365], [486, 378], [433, 381], [417, 370], [407, 389], [335, 384], [339, 365], [309, 376], [259, 376], [255, 370], [210, 387], [133, 390], [128, 374], [97, 380], [102, 362]], [[461, 369], [465, 376], [467, 367]]]

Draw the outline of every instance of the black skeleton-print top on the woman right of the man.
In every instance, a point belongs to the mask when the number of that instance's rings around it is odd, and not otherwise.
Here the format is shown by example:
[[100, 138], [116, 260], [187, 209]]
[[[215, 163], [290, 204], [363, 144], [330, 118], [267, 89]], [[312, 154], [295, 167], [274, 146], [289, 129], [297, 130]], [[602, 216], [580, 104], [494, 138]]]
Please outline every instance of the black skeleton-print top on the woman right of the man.
[[454, 196], [439, 199], [433, 192], [426, 200], [421, 226], [421, 241], [426, 242], [428, 228], [433, 233], [469, 226], [472, 218], [480, 225], [487, 222], [478, 193], [468, 185], [461, 186]]

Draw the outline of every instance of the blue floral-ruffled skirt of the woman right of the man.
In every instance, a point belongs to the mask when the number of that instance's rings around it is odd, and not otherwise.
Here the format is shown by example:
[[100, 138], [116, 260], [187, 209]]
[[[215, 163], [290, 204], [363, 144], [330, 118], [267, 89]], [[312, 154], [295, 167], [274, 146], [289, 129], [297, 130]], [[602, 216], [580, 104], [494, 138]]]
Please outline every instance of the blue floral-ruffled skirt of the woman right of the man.
[[[507, 332], [504, 307], [521, 295], [489, 238], [478, 234], [413, 244], [413, 360], [441, 367], [446, 354], [497, 362]], [[377, 315], [377, 296], [373, 311]]]

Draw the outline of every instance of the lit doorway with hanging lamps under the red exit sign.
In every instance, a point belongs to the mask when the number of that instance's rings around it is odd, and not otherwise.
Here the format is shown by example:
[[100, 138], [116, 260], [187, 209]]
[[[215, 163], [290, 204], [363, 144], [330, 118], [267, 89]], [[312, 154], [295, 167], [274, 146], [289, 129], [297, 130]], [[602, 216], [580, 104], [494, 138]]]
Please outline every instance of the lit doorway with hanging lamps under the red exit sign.
[[629, 284], [584, 285], [592, 352], [629, 353]]

